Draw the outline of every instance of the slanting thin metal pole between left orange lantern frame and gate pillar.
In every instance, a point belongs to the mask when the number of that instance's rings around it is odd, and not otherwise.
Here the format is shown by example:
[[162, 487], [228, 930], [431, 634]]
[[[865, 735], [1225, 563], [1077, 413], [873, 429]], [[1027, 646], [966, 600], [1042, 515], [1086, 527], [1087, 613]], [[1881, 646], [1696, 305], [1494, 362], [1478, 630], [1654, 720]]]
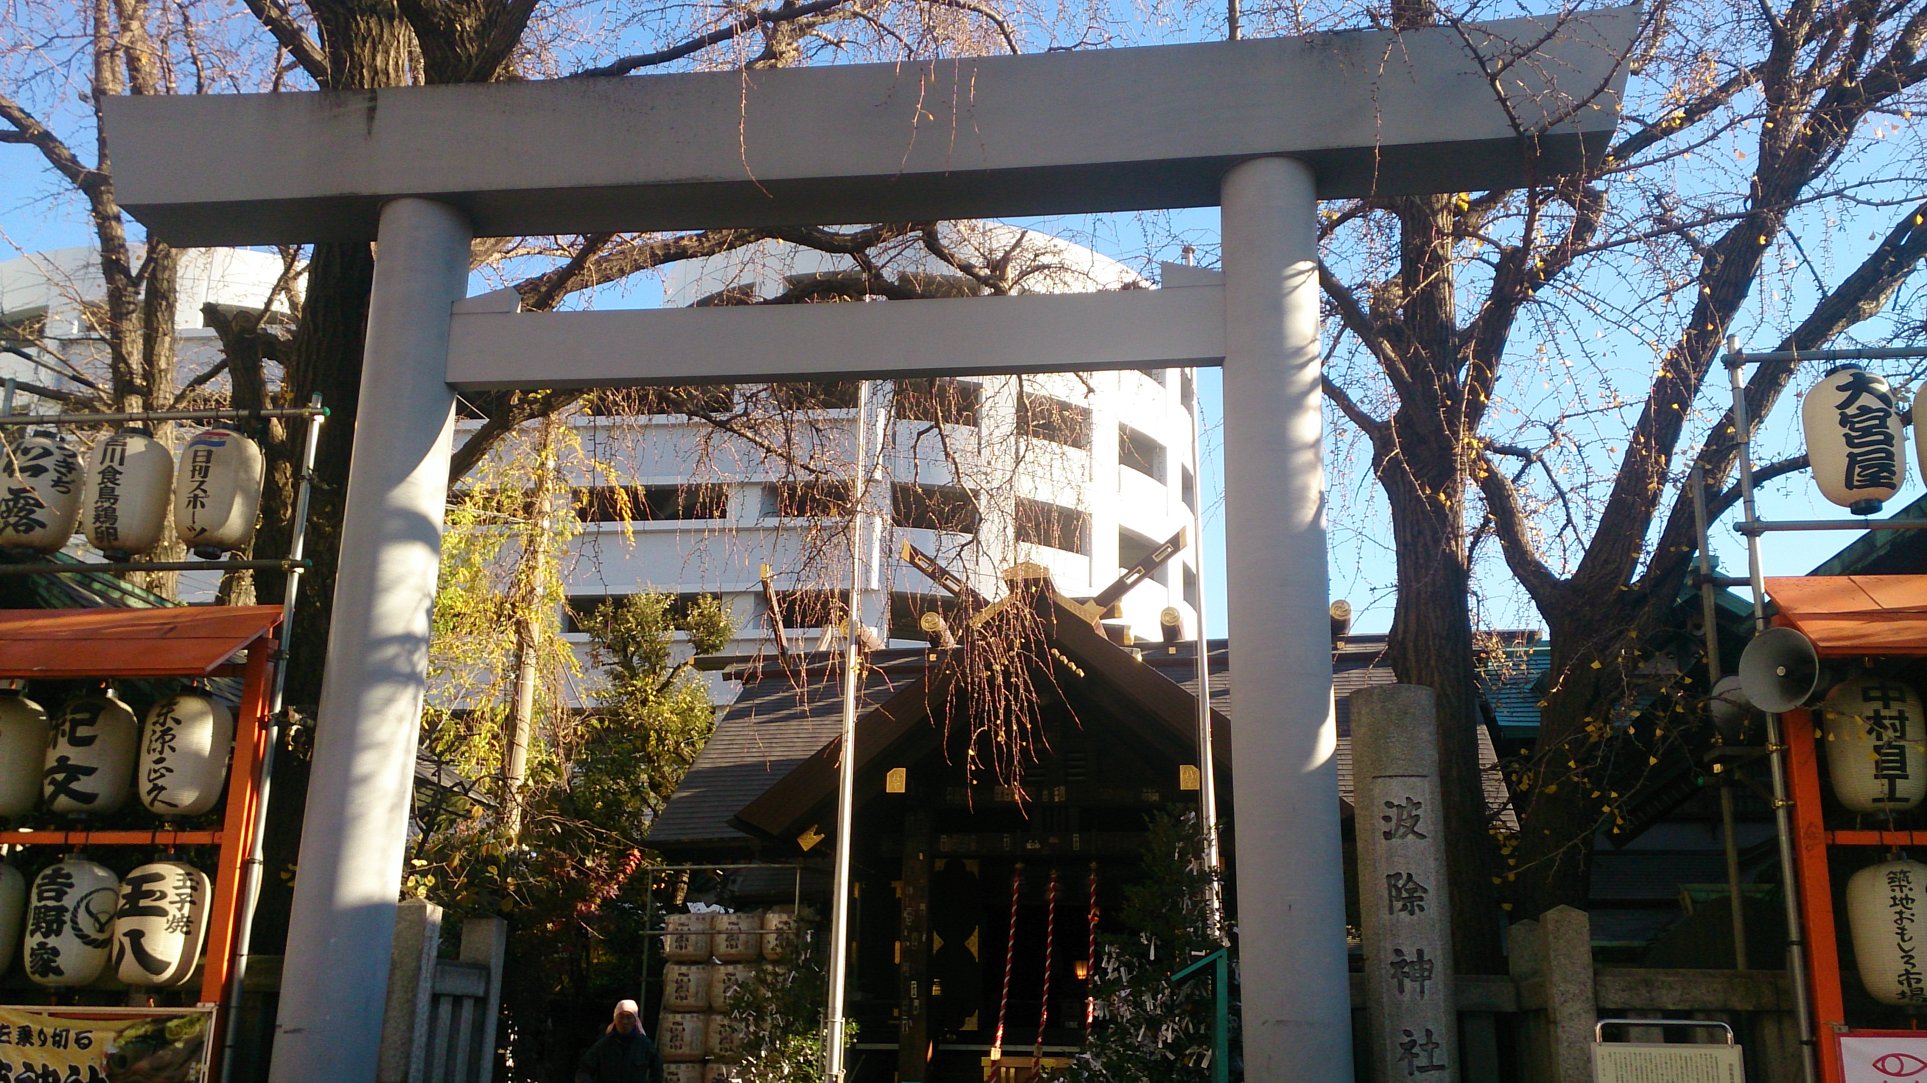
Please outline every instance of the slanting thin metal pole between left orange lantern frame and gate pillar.
[[308, 547], [308, 501], [314, 493], [314, 455], [322, 441], [322, 422], [328, 420], [328, 410], [320, 410], [320, 391], [308, 399], [308, 405], [316, 412], [308, 414], [308, 430], [301, 441], [301, 484], [295, 488], [295, 522], [287, 540], [289, 568], [281, 586], [281, 646], [276, 649], [274, 694], [268, 696], [268, 748], [262, 750], [260, 769], [254, 775], [254, 832], [247, 861], [241, 863], [241, 913], [235, 917], [233, 964], [227, 971], [227, 1029], [222, 1044], [222, 1083], [233, 1079], [235, 1050], [239, 1046], [235, 1023], [241, 1014], [241, 996], [247, 992], [247, 964], [254, 946], [254, 910], [260, 906], [260, 879], [268, 867], [268, 792], [274, 788], [274, 752], [281, 744], [287, 647], [293, 642], [295, 597], [301, 592], [301, 572], [308, 568], [303, 553]]

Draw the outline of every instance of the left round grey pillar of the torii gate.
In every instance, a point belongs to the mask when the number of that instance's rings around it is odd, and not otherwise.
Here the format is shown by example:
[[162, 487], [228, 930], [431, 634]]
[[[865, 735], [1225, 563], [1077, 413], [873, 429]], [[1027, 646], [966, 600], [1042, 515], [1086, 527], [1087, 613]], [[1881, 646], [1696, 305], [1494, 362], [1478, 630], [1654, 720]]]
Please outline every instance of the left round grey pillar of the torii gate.
[[382, 204], [272, 1083], [374, 1079], [428, 688], [468, 220]]

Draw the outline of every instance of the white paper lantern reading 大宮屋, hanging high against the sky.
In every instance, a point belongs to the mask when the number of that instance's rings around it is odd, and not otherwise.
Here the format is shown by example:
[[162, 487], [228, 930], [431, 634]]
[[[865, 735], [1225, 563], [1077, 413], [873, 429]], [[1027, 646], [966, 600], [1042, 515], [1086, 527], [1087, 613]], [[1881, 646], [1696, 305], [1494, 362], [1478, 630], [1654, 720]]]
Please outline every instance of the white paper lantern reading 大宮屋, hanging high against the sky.
[[1908, 480], [1908, 437], [1894, 393], [1877, 372], [1842, 364], [1800, 405], [1813, 482], [1829, 501], [1873, 515]]

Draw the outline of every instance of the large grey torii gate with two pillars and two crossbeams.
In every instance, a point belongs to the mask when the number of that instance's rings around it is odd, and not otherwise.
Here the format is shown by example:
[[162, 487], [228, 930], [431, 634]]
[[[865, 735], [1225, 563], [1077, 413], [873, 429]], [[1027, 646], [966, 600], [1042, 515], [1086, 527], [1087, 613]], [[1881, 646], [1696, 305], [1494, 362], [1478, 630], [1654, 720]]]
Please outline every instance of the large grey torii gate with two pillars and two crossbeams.
[[[1197, 364], [1224, 366], [1247, 1073], [1349, 1079], [1316, 202], [1580, 168], [1617, 127], [1638, 25], [1638, 8], [1607, 8], [917, 64], [108, 98], [121, 204], [154, 237], [380, 241], [276, 1083], [374, 1079], [459, 389]], [[476, 235], [1210, 204], [1224, 276], [1189, 289], [461, 304]]]

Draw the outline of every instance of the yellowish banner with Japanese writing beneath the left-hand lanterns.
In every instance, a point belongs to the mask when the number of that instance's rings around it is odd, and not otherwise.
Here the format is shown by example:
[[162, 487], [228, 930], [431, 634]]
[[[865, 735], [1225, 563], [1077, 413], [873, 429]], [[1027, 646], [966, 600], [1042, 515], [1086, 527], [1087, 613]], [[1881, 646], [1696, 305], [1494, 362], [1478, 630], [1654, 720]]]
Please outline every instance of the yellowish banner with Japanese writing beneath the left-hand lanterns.
[[212, 1008], [0, 1006], [0, 1079], [204, 1083]]

